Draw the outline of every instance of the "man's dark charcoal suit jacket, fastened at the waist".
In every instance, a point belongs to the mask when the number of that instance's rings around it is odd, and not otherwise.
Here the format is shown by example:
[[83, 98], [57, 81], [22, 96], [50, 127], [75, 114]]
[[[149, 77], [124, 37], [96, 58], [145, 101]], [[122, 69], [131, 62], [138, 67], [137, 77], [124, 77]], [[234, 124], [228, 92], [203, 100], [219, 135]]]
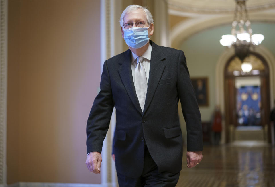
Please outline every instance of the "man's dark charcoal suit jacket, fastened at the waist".
[[159, 172], [177, 173], [182, 167], [182, 133], [178, 101], [187, 125], [187, 150], [202, 151], [201, 115], [189, 78], [184, 53], [152, 45], [144, 111], [139, 105], [131, 71], [131, 51], [104, 62], [100, 92], [87, 122], [87, 153], [101, 152], [116, 109], [114, 154], [117, 172], [139, 177], [143, 170], [144, 142]]

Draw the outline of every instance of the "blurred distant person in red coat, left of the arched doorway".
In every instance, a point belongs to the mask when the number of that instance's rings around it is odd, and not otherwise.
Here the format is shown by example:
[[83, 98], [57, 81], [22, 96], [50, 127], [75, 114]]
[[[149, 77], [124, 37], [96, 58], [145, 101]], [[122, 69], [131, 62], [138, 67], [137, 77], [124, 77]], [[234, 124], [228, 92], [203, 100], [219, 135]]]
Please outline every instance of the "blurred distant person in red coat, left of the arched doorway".
[[219, 145], [221, 140], [221, 130], [222, 130], [222, 115], [219, 105], [216, 105], [215, 112], [213, 114], [213, 123], [212, 123], [212, 131], [213, 131], [213, 144]]

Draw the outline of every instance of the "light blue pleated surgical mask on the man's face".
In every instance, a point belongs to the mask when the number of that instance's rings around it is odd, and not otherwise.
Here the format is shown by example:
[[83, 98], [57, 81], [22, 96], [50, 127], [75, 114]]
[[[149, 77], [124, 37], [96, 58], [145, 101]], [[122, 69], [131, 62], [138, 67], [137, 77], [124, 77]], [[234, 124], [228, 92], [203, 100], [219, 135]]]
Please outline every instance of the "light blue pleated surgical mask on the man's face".
[[148, 38], [148, 28], [133, 27], [130, 29], [123, 29], [126, 44], [135, 49], [145, 46], [150, 39]]

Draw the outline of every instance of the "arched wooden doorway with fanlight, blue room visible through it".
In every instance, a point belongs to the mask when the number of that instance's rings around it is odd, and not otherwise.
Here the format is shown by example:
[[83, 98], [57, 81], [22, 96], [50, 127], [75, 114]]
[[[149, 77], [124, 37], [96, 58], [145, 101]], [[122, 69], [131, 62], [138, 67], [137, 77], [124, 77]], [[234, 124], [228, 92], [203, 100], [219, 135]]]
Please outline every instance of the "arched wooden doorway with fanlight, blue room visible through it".
[[226, 142], [246, 139], [270, 141], [270, 88], [266, 60], [251, 52], [245, 58], [250, 72], [241, 70], [241, 61], [233, 55], [224, 69]]

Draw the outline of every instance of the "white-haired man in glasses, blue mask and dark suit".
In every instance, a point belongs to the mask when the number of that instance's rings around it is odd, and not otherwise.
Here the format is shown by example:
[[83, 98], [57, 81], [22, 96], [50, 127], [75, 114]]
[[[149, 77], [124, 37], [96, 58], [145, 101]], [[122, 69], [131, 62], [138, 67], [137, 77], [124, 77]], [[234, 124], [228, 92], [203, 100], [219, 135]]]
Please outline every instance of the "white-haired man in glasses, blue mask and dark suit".
[[176, 186], [182, 168], [178, 101], [187, 125], [187, 167], [202, 159], [201, 115], [184, 53], [156, 45], [148, 9], [128, 6], [121, 33], [129, 50], [105, 61], [100, 92], [87, 122], [88, 169], [100, 173], [101, 149], [113, 107], [119, 186]]

